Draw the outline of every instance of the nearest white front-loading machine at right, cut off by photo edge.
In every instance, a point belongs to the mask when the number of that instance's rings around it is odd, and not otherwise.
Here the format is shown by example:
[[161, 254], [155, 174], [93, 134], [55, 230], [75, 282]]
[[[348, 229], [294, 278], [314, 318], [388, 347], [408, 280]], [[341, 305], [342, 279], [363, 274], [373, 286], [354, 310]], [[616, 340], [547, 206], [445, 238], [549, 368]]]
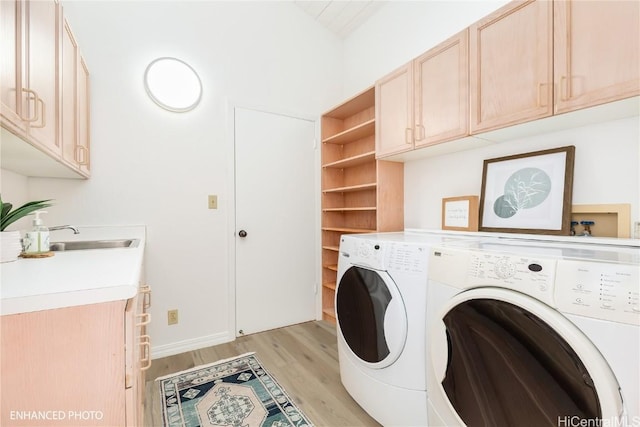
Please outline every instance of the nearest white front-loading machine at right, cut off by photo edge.
[[640, 425], [640, 249], [432, 248], [429, 426]]

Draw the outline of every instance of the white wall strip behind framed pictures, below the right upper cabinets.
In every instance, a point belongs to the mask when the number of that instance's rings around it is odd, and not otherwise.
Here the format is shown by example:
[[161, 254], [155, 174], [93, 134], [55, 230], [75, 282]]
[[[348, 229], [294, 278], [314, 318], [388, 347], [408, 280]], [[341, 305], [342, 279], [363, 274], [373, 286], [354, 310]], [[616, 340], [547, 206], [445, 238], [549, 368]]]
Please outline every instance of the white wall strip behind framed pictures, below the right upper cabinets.
[[439, 229], [443, 197], [479, 196], [484, 159], [567, 145], [576, 147], [573, 204], [630, 203], [640, 218], [639, 129], [638, 117], [627, 118], [407, 162], [405, 227]]

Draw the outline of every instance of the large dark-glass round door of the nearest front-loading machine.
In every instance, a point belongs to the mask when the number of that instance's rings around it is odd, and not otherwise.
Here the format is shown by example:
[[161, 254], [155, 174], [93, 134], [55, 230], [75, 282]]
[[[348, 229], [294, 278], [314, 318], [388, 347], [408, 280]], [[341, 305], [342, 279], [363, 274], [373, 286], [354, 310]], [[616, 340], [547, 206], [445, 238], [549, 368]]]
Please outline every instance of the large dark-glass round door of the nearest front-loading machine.
[[[521, 294], [476, 296], [458, 295], [442, 316], [449, 355], [441, 384], [465, 424], [562, 425], [620, 414], [611, 369], [570, 321]], [[542, 309], [534, 314], [519, 300]]]

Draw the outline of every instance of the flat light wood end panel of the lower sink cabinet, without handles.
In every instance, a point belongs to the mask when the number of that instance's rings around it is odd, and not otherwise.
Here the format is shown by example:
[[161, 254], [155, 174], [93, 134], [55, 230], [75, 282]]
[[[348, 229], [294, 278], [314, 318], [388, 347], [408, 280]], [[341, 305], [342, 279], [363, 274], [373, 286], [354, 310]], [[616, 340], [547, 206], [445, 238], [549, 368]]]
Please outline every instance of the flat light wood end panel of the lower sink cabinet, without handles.
[[[2, 316], [0, 425], [124, 426], [124, 309], [111, 301]], [[12, 416], [35, 411], [99, 417]]]

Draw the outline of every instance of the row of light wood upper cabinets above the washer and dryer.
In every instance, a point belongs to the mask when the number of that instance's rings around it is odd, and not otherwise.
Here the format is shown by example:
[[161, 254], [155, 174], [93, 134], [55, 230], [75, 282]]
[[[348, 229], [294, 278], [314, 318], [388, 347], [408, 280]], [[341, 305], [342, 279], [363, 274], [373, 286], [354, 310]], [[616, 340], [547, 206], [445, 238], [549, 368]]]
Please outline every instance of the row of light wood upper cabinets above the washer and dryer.
[[507, 4], [376, 83], [376, 157], [456, 151], [570, 111], [583, 110], [536, 130], [637, 115], [610, 103], [640, 95], [639, 17], [637, 1]]

